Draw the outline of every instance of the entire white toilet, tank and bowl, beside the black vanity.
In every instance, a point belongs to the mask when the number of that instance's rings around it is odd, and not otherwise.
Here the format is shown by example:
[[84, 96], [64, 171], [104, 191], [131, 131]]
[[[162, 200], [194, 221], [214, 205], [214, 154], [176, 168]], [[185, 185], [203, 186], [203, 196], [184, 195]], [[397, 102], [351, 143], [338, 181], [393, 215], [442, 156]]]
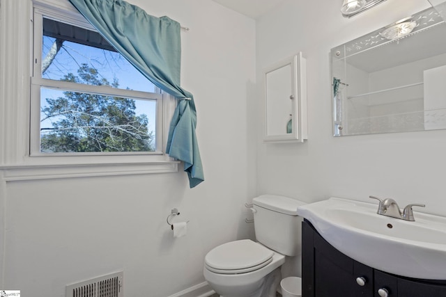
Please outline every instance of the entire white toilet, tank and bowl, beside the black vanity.
[[275, 297], [285, 256], [300, 255], [304, 202], [278, 195], [252, 200], [256, 241], [231, 241], [210, 250], [203, 275], [222, 297]]

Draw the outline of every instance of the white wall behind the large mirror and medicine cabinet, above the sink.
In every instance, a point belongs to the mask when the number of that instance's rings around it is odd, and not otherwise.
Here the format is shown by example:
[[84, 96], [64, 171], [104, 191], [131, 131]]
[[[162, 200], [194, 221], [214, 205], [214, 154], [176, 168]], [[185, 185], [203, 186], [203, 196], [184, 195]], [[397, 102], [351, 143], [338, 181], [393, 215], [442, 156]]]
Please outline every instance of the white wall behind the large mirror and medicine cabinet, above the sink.
[[[423, 211], [445, 215], [446, 130], [332, 136], [330, 49], [428, 8], [429, 2], [385, 1], [351, 19], [339, 13], [341, 2], [285, 0], [257, 22], [258, 76], [297, 51], [307, 58], [309, 119], [304, 144], [263, 144], [259, 137], [258, 191], [306, 202], [331, 196], [369, 201], [377, 195], [403, 206], [422, 202]], [[260, 85], [257, 91], [261, 97]]]

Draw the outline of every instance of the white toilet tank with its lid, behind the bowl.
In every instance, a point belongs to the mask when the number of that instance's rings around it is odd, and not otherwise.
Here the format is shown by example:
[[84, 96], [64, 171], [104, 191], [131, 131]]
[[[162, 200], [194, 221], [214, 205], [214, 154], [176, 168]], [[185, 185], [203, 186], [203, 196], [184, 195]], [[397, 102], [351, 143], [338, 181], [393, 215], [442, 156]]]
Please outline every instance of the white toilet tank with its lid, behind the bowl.
[[282, 255], [300, 255], [303, 218], [297, 210], [305, 203], [278, 195], [261, 195], [252, 204], [256, 240]]

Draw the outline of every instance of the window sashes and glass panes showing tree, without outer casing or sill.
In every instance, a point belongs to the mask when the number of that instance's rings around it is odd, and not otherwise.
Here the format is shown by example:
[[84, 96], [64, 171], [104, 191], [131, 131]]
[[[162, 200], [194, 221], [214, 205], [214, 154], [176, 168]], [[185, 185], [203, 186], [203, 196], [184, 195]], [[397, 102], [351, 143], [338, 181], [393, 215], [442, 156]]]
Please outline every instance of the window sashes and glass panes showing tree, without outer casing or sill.
[[33, 24], [31, 156], [162, 154], [160, 90], [80, 15]]

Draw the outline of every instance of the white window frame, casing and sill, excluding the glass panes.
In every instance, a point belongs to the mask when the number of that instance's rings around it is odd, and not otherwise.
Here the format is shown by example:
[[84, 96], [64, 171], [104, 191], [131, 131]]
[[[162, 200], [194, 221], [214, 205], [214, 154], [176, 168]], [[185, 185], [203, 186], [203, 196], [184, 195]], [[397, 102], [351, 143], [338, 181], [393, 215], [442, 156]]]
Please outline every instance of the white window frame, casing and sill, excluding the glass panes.
[[[157, 100], [155, 152], [40, 154], [40, 131], [38, 131], [40, 129], [40, 86], [64, 90], [79, 89], [77, 86], [72, 86], [72, 83], [41, 78], [42, 43], [41, 40], [33, 42], [33, 23], [36, 28], [38, 26], [41, 28], [40, 15], [45, 15], [62, 22], [83, 26], [86, 29], [91, 29], [91, 25], [68, 0], [15, 0], [1, 4], [2, 8], [6, 7], [8, 14], [2, 13], [3, 19], [0, 19], [0, 65], [4, 66], [0, 69], [0, 75], [10, 77], [0, 81], [0, 97], [2, 100], [5, 98], [3, 102], [0, 102], [2, 108], [0, 116], [3, 119], [1, 122], [3, 127], [0, 127], [0, 170], [3, 171], [4, 179], [8, 181], [178, 171], [179, 161], [170, 158], [165, 153], [170, 120], [176, 106], [176, 99], [167, 93], [150, 93], [150, 99]], [[36, 17], [33, 17], [34, 13]], [[31, 20], [30, 24], [29, 20]], [[35, 23], [39, 22], [40, 24], [36, 26]], [[17, 31], [15, 34], [20, 38], [14, 41], [8, 40], [11, 33], [7, 33], [6, 27], [15, 28]], [[41, 39], [41, 31], [36, 33], [35, 37]], [[4, 42], [5, 40], [8, 42]], [[16, 69], [12, 76], [9, 69]], [[27, 79], [24, 79], [26, 74], [29, 77], [27, 88]], [[8, 83], [11, 80], [13, 83]], [[95, 89], [93, 93], [119, 95], [127, 91], [114, 89], [111, 92], [111, 87], [102, 87]], [[81, 91], [88, 93], [89, 90], [92, 91], [90, 88], [91, 86], [86, 88], [83, 86]], [[147, 94], [132, 91], [130, 96], [126, 93], [121, 97], [147, 99]]]

